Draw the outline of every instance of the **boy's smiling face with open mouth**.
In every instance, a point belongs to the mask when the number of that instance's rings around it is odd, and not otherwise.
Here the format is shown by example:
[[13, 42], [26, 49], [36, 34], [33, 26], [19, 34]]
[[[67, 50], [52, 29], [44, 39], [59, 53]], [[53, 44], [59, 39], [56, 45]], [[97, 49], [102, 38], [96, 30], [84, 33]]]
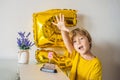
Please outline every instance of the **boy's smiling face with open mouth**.
[[75, 50], [81, 55], [88, 53], [90, 50], [90, 42], [88, 41], [88, 38], [80, 34], [77, 34], [73, 38], [73, 46]]

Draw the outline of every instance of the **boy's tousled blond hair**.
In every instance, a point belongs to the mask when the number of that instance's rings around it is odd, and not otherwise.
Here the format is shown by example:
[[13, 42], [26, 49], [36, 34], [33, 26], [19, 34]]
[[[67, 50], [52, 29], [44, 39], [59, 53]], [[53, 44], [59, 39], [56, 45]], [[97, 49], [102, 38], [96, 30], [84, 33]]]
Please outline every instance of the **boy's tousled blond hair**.
[[76, 29], [72, 30], [72, 31], [70, 32], [70, 36], [71, 36], [72, 42], [73, 42], [73, 38], [74, 38], [77, 34], [86, 36], [87, 39], [88, 39], [88, 41], [90, 42], [90, 48], [92, 47], [92, 38], [91, 38], [89, 32], [88, 32], [86, 29], [76, 28]]

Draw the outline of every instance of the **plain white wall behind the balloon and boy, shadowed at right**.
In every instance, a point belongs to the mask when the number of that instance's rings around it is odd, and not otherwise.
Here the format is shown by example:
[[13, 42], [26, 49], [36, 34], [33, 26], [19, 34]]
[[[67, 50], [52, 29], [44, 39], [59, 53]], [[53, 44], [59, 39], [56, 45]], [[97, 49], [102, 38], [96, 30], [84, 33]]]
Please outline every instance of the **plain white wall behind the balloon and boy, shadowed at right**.
[[[0, 59], [17, 58], [17, 32], [32, 32], [34, 12], [55, 8], [78, 10], [79, 23], [93, 38], [93, 53], [102, 61], [103, 80], [118, 80], [120, 0], [0, 0]], [[35, 50], [30, 50], [31, 59]]]

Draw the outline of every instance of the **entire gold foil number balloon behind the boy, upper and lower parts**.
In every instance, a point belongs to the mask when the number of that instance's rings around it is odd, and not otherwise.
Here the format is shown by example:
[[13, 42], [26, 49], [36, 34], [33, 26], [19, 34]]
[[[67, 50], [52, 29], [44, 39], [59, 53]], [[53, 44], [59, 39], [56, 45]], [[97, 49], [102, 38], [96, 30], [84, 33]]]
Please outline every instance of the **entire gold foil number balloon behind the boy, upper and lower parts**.
[[48, 53], [53, 52], [51, 63], [58, 65], [63, 71], [67, 72], [71, 68], [72, 56], [65, 49], [63, 55], [52, 50], [44, 50], [45, 48], [65, 48], [61, 33], [57, 26], [52, 22], [56, 22], [56, 15], [64, 14], [65, 25], [74, 27], [77, 24], [76, 10], [73, 9], [51, 9], [44, 12], [33, 14], [33, 35], [35, 45], [42, 50], [37, 49], [35, 58], [38, 63], [49, 62]]

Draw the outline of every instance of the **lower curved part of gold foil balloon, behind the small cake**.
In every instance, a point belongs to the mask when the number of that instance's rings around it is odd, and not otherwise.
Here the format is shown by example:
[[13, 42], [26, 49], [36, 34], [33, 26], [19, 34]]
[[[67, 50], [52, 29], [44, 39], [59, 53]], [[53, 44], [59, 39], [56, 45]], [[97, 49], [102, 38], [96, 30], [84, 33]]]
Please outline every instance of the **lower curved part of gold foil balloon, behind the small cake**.
[[51, 59], [51, 63], [57, 64], [61, 69], [70, 68], [72, 64], [72, 59], [68, 56], [68, 52], [65, 51], [63, 55], [59, 55], [59, 53], [55, 53], [51, 50], [36, 50], [35, 58], [40, 63], [48, 63], [48, 53], [53, 52], [53, 58]]

